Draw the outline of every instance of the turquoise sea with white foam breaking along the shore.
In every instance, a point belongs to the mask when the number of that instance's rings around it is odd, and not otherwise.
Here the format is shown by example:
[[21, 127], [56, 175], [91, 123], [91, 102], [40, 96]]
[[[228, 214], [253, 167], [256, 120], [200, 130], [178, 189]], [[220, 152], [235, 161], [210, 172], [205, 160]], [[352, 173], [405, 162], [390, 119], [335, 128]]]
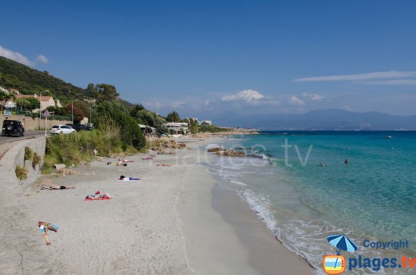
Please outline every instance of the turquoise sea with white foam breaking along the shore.
[[[337, 252], [327, 236], [338, 234], [358, 246], [340, 251], [347, 274], [416, 274], [374, 260], [416, 258], [416, 132], [261, 132], [207, 148], [216, 146], [249, 155], [216, 157], [211, 171], [219, 184], [235, 190], [316, 274], [325, 274], [323, 257]], [[400, 240], [408, 247], [365, 247]], [[371, 267], [359, 267], [359, 256]], [[349, 258], [357, 260], [352, 270]]]

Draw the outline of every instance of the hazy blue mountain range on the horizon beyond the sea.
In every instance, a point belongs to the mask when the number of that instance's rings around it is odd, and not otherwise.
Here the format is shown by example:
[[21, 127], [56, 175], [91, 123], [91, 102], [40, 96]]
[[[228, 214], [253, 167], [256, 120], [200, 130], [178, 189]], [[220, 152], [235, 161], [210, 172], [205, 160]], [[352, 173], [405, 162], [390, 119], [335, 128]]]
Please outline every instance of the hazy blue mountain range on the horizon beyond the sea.
[[323, 109], [305, 114], [241, 116], [227, 113], [214, 116], [216, 125], [252, 127], [261, 130], [416, 130], [415, 116], [395, 116], [379, 112], [349, 112]]

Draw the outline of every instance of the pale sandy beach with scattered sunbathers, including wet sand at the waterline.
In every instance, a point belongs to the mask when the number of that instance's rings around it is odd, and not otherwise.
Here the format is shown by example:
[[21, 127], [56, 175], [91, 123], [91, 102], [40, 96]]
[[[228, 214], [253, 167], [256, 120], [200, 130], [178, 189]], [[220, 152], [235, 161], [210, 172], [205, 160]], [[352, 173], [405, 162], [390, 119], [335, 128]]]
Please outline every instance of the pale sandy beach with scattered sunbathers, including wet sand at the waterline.
[[[215, 156], [197, 148], [214, 139], [179, 141], [193, 150], [153, 160], [129, 157], [135, 162], [127, 167], [107, 166], [115, 160], [104, 158], [75, 168], [79, 175], [49, 176], [51, 185], [76, 189], [26, 190], [19, 220], [25, 230], [15, 234], [37, 238], [33, 249], [45, 265], [53, 263], [50, 274], [313, 274], [209, 175], [204, 163]], [[172, 166], [156, 166], [162, 163]], [[120, 175], [141, 181], [117, 181]], [[114, 199], [84, 201], [97, 190]], [[39, 221], [60, 227], [49, 234], [49, 246]]]

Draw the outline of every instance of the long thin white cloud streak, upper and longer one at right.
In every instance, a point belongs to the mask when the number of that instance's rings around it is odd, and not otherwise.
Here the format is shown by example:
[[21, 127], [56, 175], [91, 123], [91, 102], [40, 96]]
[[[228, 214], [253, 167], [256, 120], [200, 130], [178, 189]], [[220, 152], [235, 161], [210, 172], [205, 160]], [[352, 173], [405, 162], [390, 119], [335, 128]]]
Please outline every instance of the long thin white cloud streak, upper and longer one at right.
[[312, 78], [295, 78], [296, 82], [317, 82], [317, 81], [354, 81], [388, 78], [415, 78], [416, 71], [376, 71], [374, 73], [358, 73], [340, 76], [316, 76]]

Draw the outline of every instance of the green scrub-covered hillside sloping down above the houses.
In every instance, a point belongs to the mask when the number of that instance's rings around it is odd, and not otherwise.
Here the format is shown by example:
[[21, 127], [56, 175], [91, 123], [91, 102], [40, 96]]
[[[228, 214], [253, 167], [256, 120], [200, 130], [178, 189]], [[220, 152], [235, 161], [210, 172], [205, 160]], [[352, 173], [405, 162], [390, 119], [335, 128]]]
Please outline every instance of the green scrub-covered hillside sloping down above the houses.
[[48, 72], [0, 56], [0, 86], [18, 89], [21, 94], [37, 94], [49, 90], [54, 98], [66, 102], [73, 99], [92, 98], [85, 89], [71, 85]]

